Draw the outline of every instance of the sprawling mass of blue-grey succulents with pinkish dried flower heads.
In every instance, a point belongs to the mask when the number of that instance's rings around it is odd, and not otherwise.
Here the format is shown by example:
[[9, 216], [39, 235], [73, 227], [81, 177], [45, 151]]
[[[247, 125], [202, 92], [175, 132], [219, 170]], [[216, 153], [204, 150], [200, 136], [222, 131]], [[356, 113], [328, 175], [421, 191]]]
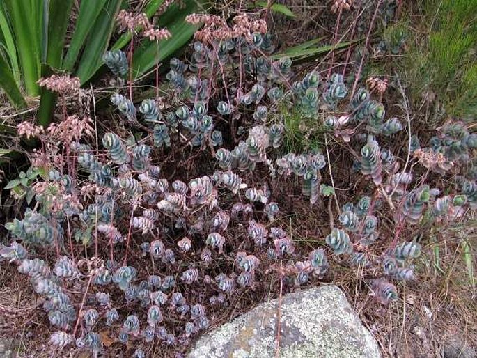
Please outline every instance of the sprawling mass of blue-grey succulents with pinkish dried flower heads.
[[[371, 23], [378, 13], [387, 21], [392, 3], [371, 11]], [[341, 16], [352, 5], [335, 1], [332, 10]], [[317, 283], [334, 262], [365, 272], [387, 305], [419, 277], [416, 228], [476, 209], [471, 126], [448, 120], [419, 138], [407, 102], [400, 117], [385, 105], [389, 86], [403, 94], [400, 82], [360, 80], [364, 58], [348, 68], [354, 84], [346, 68], [297, 73], [290, 58], [272, 56], [274, 38], [257, 14], [191, 14], [198, 30], [187, 57], [172, 58], [165, 79], [157, 67], [155, 97], [144, 99], [133, 86], [134, 37], [171, 33], [141, 13], [123, 10], [118, 21], [130, 52], [101, 58], [114, 76], [109, 116], [123, 126], [100, 132], [95, 99], [70, 75], [40, 81], [60, 98], [61, 119], [17, 126], [41, 146], [8, 185], [31, 207], [6, 225], [0, 260], [45, 299], [56, 349], [97, 355], [106, 342], [160, 342], [182, 354], [237, 297], [271, 280], [285, 291]], [[343, 172], [361, 183], [357, 194], [338, 192]], [[329, 229], [318, 244], [297, 240], [290, 198], [323, 212]]]

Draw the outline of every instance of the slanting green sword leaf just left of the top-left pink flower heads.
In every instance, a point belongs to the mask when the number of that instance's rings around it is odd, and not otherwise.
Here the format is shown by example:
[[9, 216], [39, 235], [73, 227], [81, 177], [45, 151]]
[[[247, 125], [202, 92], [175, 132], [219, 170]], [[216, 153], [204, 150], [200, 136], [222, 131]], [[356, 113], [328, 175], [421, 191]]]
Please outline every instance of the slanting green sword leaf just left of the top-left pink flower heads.
[[108, 47], [120, 4], [120, 0], [107, 0], [107, 5], [101, 9], [91, 29], [76, 72], [81, 79], [81, 84], [91, 79], [102, 65], [102, 56]]

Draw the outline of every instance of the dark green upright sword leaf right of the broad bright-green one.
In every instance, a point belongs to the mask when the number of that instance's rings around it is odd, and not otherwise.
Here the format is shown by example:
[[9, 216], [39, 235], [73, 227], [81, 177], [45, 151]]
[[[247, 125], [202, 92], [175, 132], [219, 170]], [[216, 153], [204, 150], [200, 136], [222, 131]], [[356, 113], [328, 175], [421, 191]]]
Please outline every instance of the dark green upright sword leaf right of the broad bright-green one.
[[73, 0], [49, 0], [46, 63], [53, 68], [61, 67], [72, 5]]

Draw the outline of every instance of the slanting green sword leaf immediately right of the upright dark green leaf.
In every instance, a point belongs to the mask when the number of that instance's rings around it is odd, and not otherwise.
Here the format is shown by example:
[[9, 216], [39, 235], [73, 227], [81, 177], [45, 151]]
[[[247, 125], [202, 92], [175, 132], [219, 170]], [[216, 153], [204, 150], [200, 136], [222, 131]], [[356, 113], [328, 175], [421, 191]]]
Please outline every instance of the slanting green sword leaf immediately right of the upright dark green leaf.
[[91, 33], [93, 25], [97, 17], [100, 15], [102, 8], [107, 0], [82, 0], [79, 6], [79, 15], [77, 18], [75, 32], [73, 33], [70, 48], [63, 61], [63, 68], [72, 72], [75, 64], [84, 45], [86, 37]]

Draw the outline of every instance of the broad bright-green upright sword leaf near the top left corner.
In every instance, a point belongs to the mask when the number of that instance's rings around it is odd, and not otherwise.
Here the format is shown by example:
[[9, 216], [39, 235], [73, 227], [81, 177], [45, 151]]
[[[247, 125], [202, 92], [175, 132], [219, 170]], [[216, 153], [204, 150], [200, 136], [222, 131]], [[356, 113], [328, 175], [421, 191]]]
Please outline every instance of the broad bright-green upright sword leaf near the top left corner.
[[37, 0], [4, 0], [4, 4], [15, 35], [25, 91], [28, 95], [38, 95], [42, 6], [38, 6]]

